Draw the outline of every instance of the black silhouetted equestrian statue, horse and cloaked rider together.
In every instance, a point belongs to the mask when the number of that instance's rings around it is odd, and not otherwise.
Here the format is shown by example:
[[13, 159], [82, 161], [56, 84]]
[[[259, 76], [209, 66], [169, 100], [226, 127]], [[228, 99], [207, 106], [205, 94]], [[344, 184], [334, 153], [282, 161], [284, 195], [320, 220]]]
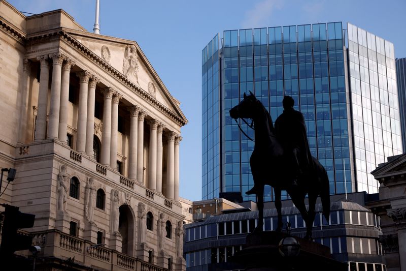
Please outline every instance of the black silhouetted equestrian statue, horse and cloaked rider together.
[[[276, 231], [282, 230], [281, 194], [285, 190], [306, 222], [304, 238], [311, 239], [318, 196], [321, 198], [323, 215], [329, 220], [330, 188], [325, 168], [310, 153], [303, 115], [294, 110], [293, 106], [292, 97], [285, 96], [284, 111], [277, 118], [274, 127], [269, 112], [250, 92], [250, 95], [244, 93], [244, 99], [231, 108], [230, 116], [235, 121], [237, 118], [251, 118], [254, 126], [255, 145], [250, 157], [254, 187], [246, 192], [257, 196], [259, 217], [254, 231], [263, 229], [264, 186], [269, 185], [275, 191], [278, 213]], [[304, 202], [306, 195], [309, 200], [308, 208]]]

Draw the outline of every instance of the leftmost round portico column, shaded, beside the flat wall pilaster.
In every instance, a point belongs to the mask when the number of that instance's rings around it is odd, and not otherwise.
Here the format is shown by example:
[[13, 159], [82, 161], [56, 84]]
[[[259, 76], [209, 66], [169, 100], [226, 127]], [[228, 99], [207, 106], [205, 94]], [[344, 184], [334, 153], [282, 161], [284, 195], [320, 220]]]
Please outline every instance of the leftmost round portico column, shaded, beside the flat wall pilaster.
[[37, 57], [41, 63], [40, 89], [38, 93], [38, 110], [37, 124], [35, 127], [35, 141], [45, 139], [47, 129], [47, 106], [48, 106], [48, 81], [49, 81], [49, 64], [48, 56], [41, 55]]

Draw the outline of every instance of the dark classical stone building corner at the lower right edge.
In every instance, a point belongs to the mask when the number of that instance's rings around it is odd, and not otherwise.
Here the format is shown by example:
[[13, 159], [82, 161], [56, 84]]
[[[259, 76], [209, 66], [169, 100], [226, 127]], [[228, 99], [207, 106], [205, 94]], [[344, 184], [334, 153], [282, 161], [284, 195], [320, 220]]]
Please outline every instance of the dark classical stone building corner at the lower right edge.
[[381, 217], [387, 270], [406, 270], [406, 154], [389, 157], [371, 173], [381, 186], [379, 200], [367, 207]]

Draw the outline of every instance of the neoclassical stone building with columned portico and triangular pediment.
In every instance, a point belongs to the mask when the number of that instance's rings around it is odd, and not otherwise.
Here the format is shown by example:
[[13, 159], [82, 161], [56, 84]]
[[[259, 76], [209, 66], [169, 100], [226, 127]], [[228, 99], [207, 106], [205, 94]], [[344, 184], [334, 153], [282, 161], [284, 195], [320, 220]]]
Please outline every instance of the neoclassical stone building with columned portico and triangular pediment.
[[37, 269], [185, 269], [187, 119], [138, 44], [3, 0], [0, 29], [0, 202], [36, 215]]

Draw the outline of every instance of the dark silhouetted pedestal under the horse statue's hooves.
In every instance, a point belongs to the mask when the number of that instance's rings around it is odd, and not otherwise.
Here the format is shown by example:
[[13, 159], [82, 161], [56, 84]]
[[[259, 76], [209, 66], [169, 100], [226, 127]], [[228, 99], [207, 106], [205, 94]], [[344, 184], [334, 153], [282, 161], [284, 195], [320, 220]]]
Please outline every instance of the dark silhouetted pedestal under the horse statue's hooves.
[[245, 270], [329, 270], [347, 271], [347, 263], [331, 258], [330, 249], [309, 240], [293, 236], [300, 245], [296, 256], [282, 256], [279, 243], [286, 233], [265, 231], [247, 235], [246, 245], [232, 257], [232, 262]]

